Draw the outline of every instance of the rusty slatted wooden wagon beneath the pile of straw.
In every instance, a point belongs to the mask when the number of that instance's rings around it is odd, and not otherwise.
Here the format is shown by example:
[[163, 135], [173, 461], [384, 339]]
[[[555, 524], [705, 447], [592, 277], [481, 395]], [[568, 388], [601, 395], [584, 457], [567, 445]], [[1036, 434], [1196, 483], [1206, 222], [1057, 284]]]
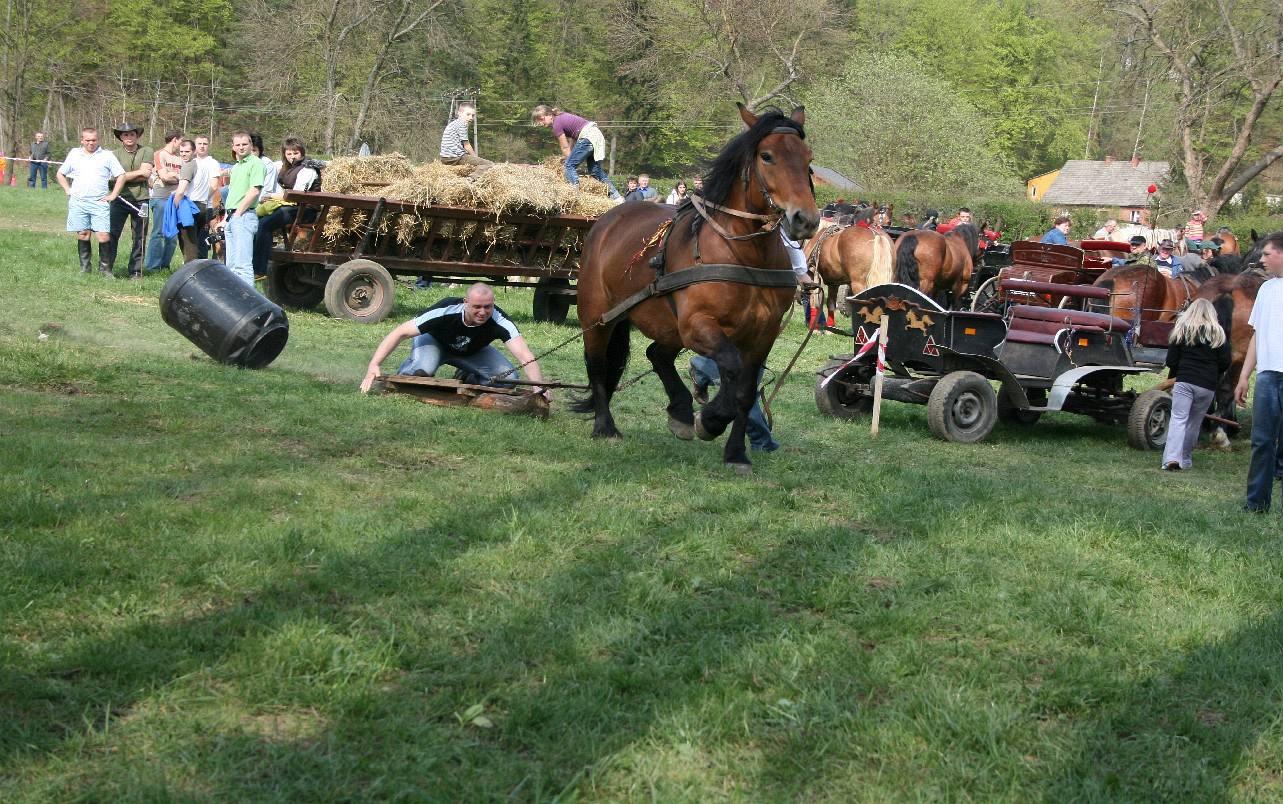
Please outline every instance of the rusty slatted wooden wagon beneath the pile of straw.
[[299, 214], [272, 251], [266, 290], [286, 306], [325, 304], [373, 323], [393, 309], [394, 276], [532, 287], [536, 321], [563, 322], [595, 218], [423, 206], [372, 195], [287, 191]]

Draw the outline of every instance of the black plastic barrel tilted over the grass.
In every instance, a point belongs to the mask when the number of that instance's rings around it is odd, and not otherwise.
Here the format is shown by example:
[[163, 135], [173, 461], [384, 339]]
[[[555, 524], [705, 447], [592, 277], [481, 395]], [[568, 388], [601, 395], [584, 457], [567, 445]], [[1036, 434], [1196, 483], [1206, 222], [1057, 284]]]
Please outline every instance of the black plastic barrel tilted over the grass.
[[195, 259], [160, 290], [160, 317], [219, 363], [263, 368], [285, 349], [285, 310], [214, 259]]

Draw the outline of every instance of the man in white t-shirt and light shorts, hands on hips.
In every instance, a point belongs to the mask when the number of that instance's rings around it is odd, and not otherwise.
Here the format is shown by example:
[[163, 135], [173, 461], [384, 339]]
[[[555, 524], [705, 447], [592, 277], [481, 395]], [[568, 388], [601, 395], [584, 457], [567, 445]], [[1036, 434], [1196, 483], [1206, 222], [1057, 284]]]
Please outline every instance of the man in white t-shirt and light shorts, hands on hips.
[[67, 231], [76, 232], [81, 273], [94, 269], [90, 235], [98, 235], [98, 269], [104, 277], [110, 277], [112, 201], [124, 187], [121, 160], [112, 151], [99, 147], [96, 128], [82, 128], [81, 146], [67, 154], [56, 178], [68, 196]]

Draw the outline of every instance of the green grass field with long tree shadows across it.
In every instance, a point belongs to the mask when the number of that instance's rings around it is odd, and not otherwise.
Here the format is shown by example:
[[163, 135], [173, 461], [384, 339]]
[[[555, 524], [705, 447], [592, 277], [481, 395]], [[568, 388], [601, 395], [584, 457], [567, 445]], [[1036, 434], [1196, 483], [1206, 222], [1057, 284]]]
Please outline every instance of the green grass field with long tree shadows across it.
[[1283, 799], [1243, 444], [1165, 473], [1083, 417], [965, 446], [897, 403], [872, 440], [816, 410], [829, 336], [736, 477], [654, 377], [617, 444], [565, 394], [359, 395], [444, 290], [226, 368], [162, 278], [81, 277], [64, 213], [0, 188], [3, 801]]

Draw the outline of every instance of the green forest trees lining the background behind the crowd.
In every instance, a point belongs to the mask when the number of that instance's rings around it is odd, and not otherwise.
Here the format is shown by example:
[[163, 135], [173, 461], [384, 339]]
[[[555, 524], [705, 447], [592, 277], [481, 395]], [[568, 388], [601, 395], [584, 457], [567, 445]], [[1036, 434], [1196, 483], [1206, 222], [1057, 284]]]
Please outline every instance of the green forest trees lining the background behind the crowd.
[[[1212, 214], [1283, 185], [1278, 0], [5, 0], [0, 150], [121, 119], [313, 155], [436, 155], [475, 99], [494, 160], [595, 119], [612, 172], [690, 176], [753, 109], [807, 105], [870, 194], [1021, 197], [1066, 159], [1164, 159]], [[63, 151], [64, 153], [64, 151]]]

